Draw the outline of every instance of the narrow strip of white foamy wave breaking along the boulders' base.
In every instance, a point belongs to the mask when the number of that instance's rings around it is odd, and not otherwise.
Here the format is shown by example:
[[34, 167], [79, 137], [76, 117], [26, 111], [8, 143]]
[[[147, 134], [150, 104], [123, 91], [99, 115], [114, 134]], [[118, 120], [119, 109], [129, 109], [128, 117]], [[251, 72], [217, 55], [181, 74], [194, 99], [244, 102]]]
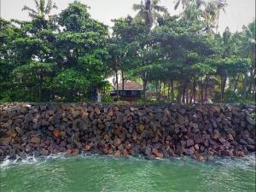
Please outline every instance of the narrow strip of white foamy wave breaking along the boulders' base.
[[32, 156], [26, 156], [25, 158], [20, 158], [20, 156], [16, 156], [15, 160], [9, 160], [9, 156], [7, 156], [2, 162], [0, 162], [0, 169], [7, 169], [12, 166], [20, 166], [24, 164], [41, 164], [45, 163], [49, 160], [69, 160], [69, 159], [97, 159], [97, 160], [130, 160], [133, 161], [159, 161], [159, 162], [176, 162], [176, 163], [198, 163], [198, 164], [213, 164], [217, 166], [226, 166], [226, 167], [232, 167], [232, 168], [241, 168], [246, 169], [248, 166], [256, 166], [256, 158], [255, 154], [248, 154], [245, 157], [242, 158], [220, 158], [220, 157], [214, 157], [210, 160], [207, 160], [205, 162], [198, 162], [197, 160], [192, 160], [190, 157], [184, 156], [184, 157], [175, 157], [172, 159], [146, 159], [143, 155], [139, 155], [137, 157], [129, 156], [129, 157], [120, 157], [115, 158], [110, 155], [100, 155], [100, 154], [88, 154], [83, 153], [76, 156], [70, 156], [64, 153], [59, 154], [49, 154], [48, 156], [39, 156], [36, 157], [34, 155]]

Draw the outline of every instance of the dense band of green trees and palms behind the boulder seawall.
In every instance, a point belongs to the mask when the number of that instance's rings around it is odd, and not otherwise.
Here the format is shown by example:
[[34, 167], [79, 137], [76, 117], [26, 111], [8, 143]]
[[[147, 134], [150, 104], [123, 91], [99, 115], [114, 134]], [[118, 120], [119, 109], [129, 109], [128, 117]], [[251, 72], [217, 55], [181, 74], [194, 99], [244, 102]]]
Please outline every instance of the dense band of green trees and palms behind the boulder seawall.
[[[30, 21], [0, 19], [0, 101], [110, 102], [111, 75], [121, 74], [169, 102], [250, 102], [255, 97], [255, 20], [220, 34], [224, 0], [177, 0], [170, 15], [159, 0], [134, 4], [137, 15], [110, 28], [74, 1], [59, 15], [52, 1], [24, 7]], [[122, 89], [119, 87], [118, 89]]]

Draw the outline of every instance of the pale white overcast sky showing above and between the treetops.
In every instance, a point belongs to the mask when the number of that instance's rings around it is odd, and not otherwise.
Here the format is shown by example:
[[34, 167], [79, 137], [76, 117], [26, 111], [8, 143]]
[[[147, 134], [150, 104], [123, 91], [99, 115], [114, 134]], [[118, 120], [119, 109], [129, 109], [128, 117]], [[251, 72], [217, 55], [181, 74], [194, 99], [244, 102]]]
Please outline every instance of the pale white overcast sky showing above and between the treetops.
[[[52, 14], [60, 13], [66, 9], [68, 3], [73, 0], [53, 0], [58, 9]], [[161, 4], [169, 9], [171, 15], [178, 14], [173, 10], [175, 0], [161, 0]], [[30, 20], [26, 12], [21, 11], [24, 5], [34, 8], [33, 0], [0, 0], [1, 16], [3, 19]], [[96, 20], [102, 21], [108, 26], [113, 26], [111, 20], [127, 15], [135, 15], [132, 4], [140, 3], [141, 0], [80, 0], [90, 6], [90, 14]], [[228, 6], [225, 13], [221, 12], [219, 17], [219, 31], [224, 32], [226, 26], [230, 27], [231, 32], [241, 31], [243, 25], [247, 25], [255, 19], [255, 0], [227, 0]]]

